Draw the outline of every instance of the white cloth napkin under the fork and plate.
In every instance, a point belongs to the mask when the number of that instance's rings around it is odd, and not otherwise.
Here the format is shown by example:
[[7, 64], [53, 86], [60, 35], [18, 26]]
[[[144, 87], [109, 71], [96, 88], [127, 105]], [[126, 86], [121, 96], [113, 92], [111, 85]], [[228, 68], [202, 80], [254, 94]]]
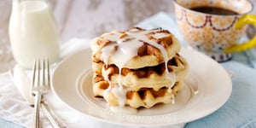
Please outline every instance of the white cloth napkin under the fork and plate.
[[[61, 46], [61, 58], [72, 55], [79, 49], [89, 48], [89, 39], [73, 38]], [[29, 71], [27, 71], [29, 72]], [[26, 72], [26, 73], [27, 73]], [[28, 73], [29, 74], [29, 73]], [[19, 81], [22, 81], [19, 80]], [[12, 81], [9, 73], [0, 74], [0, 116], [3, 119], [15, 122], [16, 124], [31, 127], [33, 108], [29, 106], [26, 100], [21, 96], [20, 86], [22, 82]], [[27, 85], [26, 85], [27, 86]], [[68, 95], [68, 94], [67, 94]], [[79, 113], [73, 108], [69, 108], [61, 102], [52, 91], [45, 95], [50, 108], [54, 110], [57, 116], [67, 125], [68, 128], [93, 127], [93, 128], [118, 128], [120, 125], [105, 123], [96, 119], [90, 119], [83, 113]], [[41, 114], [42, 115], [42, 114]], [[44, 128], [51, 127], [48, 119], [41, 116]], [[129, 127], [129, 126], [122, 126]], [[170, 126], [163, 126], [170, 127]], [[172, 127], [183, 127], [183, 125], [172, 125]]]

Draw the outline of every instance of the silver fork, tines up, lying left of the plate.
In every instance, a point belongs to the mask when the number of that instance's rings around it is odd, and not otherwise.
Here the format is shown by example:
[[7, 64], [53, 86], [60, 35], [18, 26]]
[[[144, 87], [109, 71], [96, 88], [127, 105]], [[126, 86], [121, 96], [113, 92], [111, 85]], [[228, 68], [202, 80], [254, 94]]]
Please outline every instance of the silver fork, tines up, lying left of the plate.
[[30, 91], [35, 96], [34, 114], [32, 119], [32, 127], [39, 128], [39, 108], [41, 96], [49, 90], [49, 61], [46, 58], [36, 59], [33, 67], [32, 84]]

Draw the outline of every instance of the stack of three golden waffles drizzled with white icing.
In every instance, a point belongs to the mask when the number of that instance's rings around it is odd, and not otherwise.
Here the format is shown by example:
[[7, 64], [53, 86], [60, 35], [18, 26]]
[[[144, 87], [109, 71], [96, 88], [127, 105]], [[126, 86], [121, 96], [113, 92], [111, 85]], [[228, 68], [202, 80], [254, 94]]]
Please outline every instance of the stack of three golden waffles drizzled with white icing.
[[102, 34], [91, 41], [93, 93], [112, 107], [175, 103], [188, 64], [177, 38], [161, 28]]

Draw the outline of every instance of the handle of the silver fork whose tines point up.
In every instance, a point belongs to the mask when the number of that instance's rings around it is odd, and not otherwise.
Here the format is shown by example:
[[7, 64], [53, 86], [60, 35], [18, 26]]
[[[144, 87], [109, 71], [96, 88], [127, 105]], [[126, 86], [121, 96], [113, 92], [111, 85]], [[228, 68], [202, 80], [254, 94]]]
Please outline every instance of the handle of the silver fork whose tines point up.
[[41, 102], [41, 94], [40, 93], [36, 93], [35, 94], [35, 108], [34, 108], [34, 115], [33, 115], [33, 119], [32, 119], [32, 128], [39, 128], [39, 110], [40, 110], [40, 102]]

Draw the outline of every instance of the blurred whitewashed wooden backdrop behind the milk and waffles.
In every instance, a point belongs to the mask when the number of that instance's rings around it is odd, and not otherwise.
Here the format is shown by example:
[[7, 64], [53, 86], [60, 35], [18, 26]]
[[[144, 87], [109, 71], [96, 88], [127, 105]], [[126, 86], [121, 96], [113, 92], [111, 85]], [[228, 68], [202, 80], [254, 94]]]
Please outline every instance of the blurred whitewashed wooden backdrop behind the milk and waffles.
[[[173, 13], [172, 1], [49, 0], [49, 3], [54, 11], [62, 44], [71, 38], [94, 38], [103, 32], [128, 29], [160, 11], [171, 15]], [[256, 0], [251, 1], [253, 4], [256, 3]], [[11, 8], [12, 0], [0, 1], [1, 67], [10, 67], [9, 61], [13, 60], [12, 56], [9, 55], [11, 53], [8, 36]], [[253, 9], [253, 14], [256, 14], [255, 12], [255, 9]], [[250, 29], [248, 32], [254, 34], [254, 29]]]

